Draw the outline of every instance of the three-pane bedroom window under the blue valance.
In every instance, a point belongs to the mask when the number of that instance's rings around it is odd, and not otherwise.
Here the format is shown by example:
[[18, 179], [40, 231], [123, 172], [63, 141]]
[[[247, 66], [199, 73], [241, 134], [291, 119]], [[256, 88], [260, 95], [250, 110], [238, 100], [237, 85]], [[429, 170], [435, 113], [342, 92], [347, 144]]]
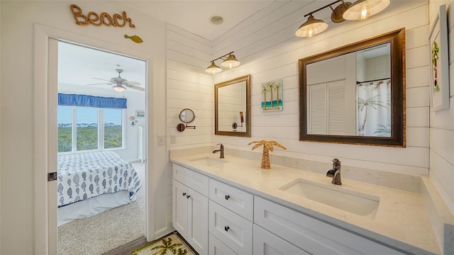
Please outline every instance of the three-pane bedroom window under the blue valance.
[[123, 147], [122, 109], [58, 107], [58, 152]]

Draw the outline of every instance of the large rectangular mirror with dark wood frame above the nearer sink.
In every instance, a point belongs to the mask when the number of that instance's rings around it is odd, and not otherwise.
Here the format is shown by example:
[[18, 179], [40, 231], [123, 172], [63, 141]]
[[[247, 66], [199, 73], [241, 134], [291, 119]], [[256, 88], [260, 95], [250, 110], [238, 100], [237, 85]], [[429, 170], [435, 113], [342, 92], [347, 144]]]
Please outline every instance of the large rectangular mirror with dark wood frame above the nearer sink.
[[299, 140], [405, 147], [405, 29], [299, 60]]

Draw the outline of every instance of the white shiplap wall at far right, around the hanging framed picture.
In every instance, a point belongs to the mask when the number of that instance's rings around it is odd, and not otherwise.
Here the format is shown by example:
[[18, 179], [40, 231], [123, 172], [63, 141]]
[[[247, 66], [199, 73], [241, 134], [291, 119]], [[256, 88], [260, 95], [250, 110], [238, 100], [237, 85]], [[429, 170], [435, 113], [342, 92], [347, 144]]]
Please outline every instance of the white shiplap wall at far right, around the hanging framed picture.
[[430, 113], [429, 176], [454, 214], [454, 1], [429, 1], [429, 21], [432, 27], [443, 4], [448, 9], [450, 108]]

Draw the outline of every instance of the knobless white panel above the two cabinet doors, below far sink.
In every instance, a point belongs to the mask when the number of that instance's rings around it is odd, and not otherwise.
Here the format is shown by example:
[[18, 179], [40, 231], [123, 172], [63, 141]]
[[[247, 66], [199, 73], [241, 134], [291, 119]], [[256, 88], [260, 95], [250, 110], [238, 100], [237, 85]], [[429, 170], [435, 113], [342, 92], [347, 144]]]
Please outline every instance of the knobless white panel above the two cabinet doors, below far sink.
[[172, 165], [173, 179], [208, 197], [209, 178], [178, 164]]

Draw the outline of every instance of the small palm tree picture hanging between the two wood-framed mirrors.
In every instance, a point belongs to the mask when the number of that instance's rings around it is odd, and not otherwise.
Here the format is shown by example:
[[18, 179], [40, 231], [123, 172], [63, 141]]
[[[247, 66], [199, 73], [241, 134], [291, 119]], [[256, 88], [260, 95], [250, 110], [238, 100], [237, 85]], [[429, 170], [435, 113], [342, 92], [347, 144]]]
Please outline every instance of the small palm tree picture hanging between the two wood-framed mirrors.
[[284, 96], [284, 80], [278, 79], [262, 83], [262, 111], [282, 111]]

